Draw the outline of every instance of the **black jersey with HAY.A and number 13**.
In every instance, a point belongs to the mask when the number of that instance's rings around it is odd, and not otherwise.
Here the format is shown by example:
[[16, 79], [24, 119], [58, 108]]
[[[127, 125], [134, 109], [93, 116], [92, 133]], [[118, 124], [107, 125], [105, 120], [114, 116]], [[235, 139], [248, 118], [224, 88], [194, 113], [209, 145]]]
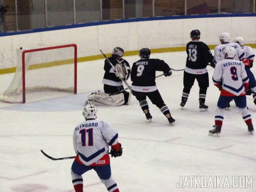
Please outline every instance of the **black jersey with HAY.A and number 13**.
[[187, 44], [186, 52], [188, 55], [186, 67], [190, 69], [204, 69], [209, 62], [213, 61], [212, 52], [202, 41], [190, 41]]

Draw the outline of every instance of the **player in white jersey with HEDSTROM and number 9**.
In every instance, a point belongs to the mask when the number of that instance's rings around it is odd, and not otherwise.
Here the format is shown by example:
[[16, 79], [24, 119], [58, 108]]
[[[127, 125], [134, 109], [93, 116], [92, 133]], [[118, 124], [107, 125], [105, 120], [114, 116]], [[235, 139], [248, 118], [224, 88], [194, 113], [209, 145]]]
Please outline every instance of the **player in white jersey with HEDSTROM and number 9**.
[[241, 113], [244, 122], [247, 124], [247, 129], [252, 132], [252, 117], [247, 110], [246, 105], [246, 90], [249, 87], [249, 79], [244, 69], [243, 62], [234, 60], [236, 50], [233, 47], [226, 47], [224, 52], [225, 60], [216, 63], [216, 67], [212, 76], [213, 83], [221, 89], [216, 113], [215, 127], [209, 131], [209, 135], [221, 133], [221, 127], [224, 120], [223, 111], [231, 100], [235, 101], [238, 111]]

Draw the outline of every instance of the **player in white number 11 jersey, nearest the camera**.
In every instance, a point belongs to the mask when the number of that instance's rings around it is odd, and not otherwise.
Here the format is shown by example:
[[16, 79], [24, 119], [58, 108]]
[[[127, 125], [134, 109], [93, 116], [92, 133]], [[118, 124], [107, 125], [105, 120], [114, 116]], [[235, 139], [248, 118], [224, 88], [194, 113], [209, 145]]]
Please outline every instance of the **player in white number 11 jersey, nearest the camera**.
[[123, 150], [118, 143], [117, 131], [106, 121], [97, 120], [97, 109], [86, 105], [83, 115], [85, 121], [74, 129], [73, 144], [77, 156], [71, 167], [71, 176], [75, 192], [83, 192], [82, 175], [88, 170], [95, 170], [109, 192], [119, 192], [111, 177], [110, 157], [119, 157]]

